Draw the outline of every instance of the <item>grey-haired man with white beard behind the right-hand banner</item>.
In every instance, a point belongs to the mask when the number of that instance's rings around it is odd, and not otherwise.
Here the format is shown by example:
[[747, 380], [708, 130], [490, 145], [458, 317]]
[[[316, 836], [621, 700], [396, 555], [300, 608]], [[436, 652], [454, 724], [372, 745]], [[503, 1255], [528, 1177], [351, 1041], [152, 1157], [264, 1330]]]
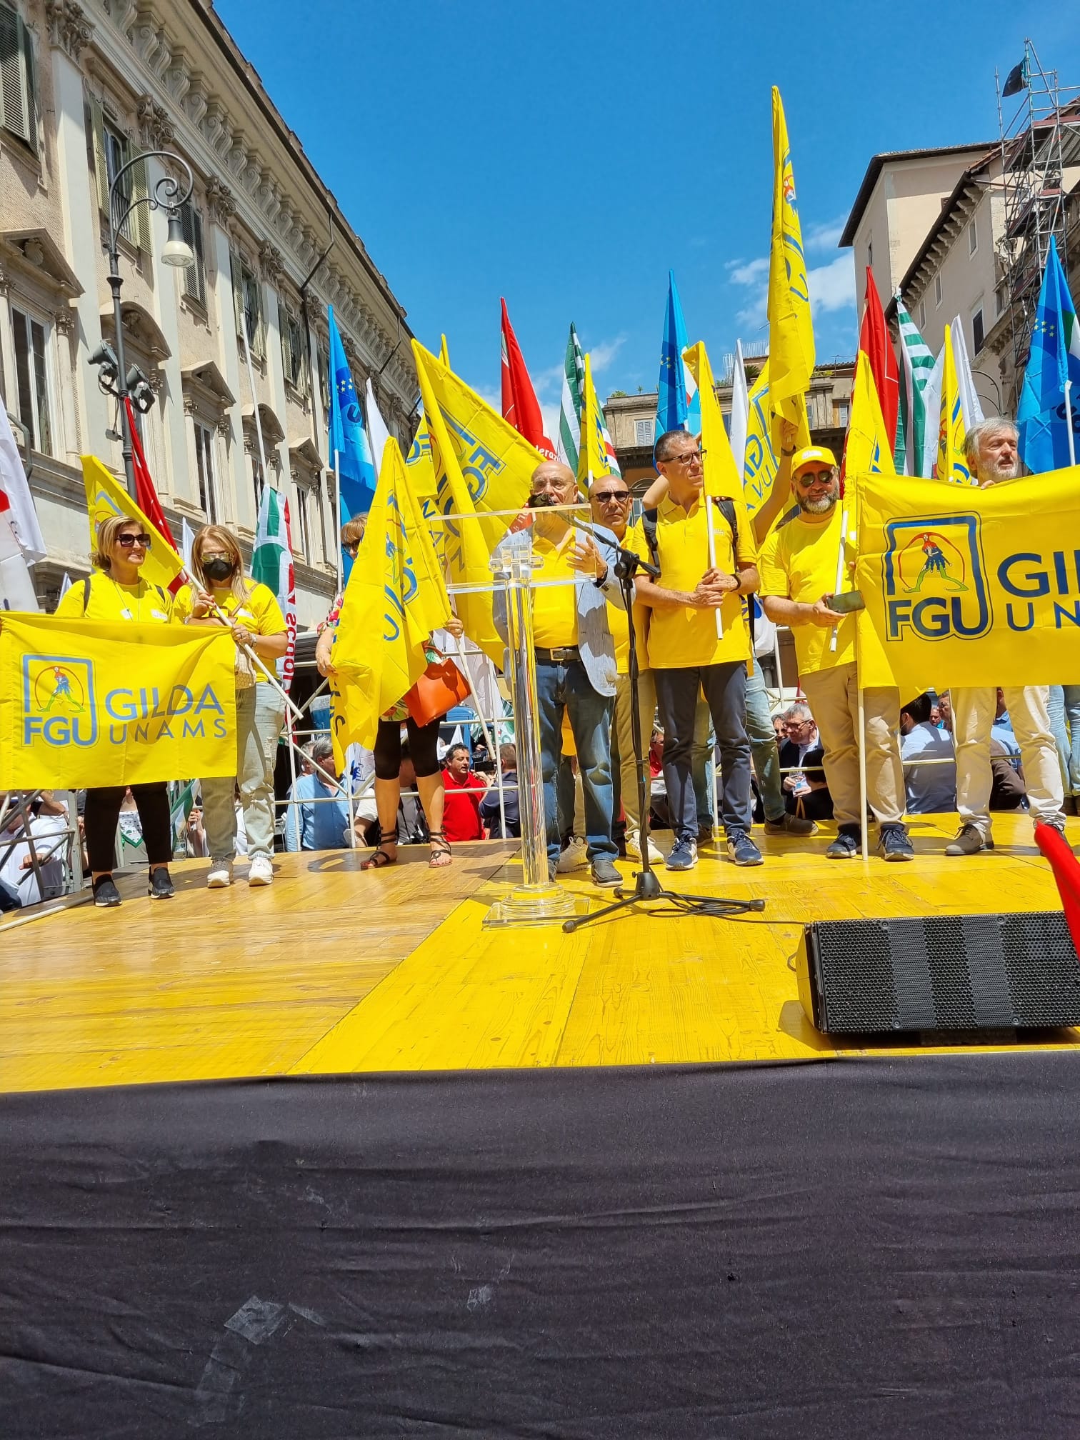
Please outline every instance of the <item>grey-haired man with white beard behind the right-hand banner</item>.
[[[1020, 432], [1011, 420], [994, 418], [973, 425], [963, 441], [968, 467], [979, 487], [1008, 484], [1020, 471], [1017, 439]], [[945, 848], [946, 855], [978, 855], [994, 850], [991, 840], [989, 798], [991, 726], [996, 713], [998, 693], [994, 685], [952, 688], [953, 736], [956, 740], [956, 808], [960, 828]], [[1047, 701], [1048, 685], [1009, 685], [1005, 688], [1012, 730], [1020, 743], [1024, 778], [1028, 788], [1031, 819], [1053, 825], [1064, 834], [1064, 788], [1057, 743], [1050, 729]]]

